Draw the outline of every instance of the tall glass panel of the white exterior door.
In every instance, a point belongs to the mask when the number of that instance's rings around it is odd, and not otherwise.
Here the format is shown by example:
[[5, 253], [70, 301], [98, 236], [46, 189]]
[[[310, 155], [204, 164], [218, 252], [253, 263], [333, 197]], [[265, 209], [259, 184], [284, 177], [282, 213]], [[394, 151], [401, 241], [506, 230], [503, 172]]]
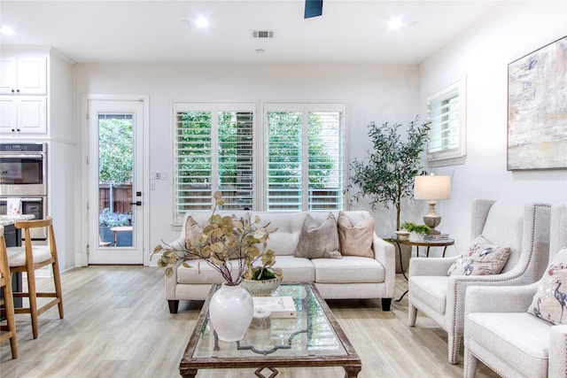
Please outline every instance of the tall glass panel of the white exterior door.
[[98, 113], [99, 247], [134, 246], [133, 114]]

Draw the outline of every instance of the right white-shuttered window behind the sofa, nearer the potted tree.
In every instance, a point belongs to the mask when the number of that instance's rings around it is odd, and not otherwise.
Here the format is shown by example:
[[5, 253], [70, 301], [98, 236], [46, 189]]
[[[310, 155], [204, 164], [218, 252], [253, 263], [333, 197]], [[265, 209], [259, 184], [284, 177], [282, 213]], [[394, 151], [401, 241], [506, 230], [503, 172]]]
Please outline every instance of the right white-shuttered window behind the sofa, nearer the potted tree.
[[270, 210], [341, 210], [345, 104], [265, 104]]

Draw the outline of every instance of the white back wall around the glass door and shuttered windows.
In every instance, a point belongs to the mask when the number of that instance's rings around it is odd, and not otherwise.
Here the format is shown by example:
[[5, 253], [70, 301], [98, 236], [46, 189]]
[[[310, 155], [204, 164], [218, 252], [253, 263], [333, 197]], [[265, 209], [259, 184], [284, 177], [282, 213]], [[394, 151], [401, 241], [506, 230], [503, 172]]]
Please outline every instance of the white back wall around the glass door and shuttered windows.
[[[150, 97], [151, 163], [145, 174], [162, 171], [168, 177], [167, 181], [155, 181], [156, 188], [150, 192], [150, 253], [161, 240], [174, 240], [179, 233], [172, 227], [173, 101], [347, 100], [349, 162], [368, 156], [370, 121], [405, 125], [420, 109], [417, 66], [79, 64], [74, 68], [74, 79], [75, 109], [81, 109], [81, 96], [87, 94]], [[81, 125], [79, 112], [75, 125]], [[78, 158], [84, 154], [82, 151]], [[390, 236], [395, 224], [393, 210], [378, 209], [376, 218], [378, 235]]]

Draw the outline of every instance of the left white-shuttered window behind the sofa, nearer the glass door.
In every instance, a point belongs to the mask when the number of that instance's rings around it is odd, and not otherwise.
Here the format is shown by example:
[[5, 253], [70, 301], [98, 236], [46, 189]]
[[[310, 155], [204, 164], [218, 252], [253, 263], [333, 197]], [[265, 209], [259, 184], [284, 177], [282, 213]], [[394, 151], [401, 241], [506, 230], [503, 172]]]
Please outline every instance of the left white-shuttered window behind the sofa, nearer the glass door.
[[175, 222], [187, 211], [251, 209], [255, 104], [175, 104]]

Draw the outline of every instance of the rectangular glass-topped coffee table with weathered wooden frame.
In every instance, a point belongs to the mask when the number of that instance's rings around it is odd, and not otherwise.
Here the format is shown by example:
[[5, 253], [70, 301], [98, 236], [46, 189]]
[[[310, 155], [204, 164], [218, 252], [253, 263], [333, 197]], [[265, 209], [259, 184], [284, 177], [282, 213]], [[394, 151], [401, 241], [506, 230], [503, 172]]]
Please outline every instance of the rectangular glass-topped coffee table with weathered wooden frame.
[[266, 370], [271, 378], [278, 374], [276, 367], [300, 366], [342, 366], [349, 378], [360, 373], [360, 357], [315, 285], [280, 285], [272, 297], [292, 297], [297, 316], [274, 315], [264, 335], [249, 328], [236, 343], [220, 341], [209, 322], [209, 302], [219, 286], [212, 286], [183, 353], [183, 377], [194, 377], [198, 369], [255, 368], [257, 376], [264, 377]]

